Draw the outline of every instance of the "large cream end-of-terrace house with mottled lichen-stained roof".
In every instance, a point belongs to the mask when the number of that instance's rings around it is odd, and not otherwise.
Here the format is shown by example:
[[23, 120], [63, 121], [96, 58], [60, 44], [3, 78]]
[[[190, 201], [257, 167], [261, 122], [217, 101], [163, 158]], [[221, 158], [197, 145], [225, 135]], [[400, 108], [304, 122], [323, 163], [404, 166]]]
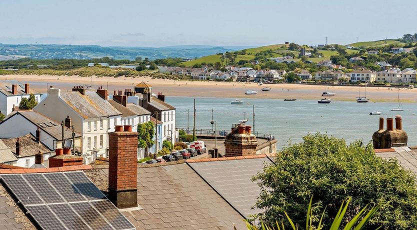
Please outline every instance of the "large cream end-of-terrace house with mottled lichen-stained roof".
[[[101, 90], [106, 94], [106, 90]], [[85, 163], [107, 155], [107, 133], [114, 131], [121, 117], [121, 112], [100, 97], [95, 89], [83, 86], [74, 86], [71, 92], [49, 88], [48, 96], [33, 110], [53, 120], [71, 118], [74, 130], [83, 133], [81, 152]]]

